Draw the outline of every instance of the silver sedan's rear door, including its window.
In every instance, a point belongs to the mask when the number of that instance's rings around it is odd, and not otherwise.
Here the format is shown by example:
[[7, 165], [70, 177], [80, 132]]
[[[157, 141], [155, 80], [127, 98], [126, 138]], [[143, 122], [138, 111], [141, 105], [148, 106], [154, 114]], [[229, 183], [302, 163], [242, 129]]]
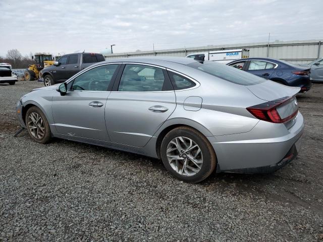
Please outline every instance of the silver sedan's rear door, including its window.
[[111, 141], [143, 147], [176, 107], [167, 72], [163, 68], [127, 64], [115, 85], [116, 91], [109, 95], [105, 107]]

